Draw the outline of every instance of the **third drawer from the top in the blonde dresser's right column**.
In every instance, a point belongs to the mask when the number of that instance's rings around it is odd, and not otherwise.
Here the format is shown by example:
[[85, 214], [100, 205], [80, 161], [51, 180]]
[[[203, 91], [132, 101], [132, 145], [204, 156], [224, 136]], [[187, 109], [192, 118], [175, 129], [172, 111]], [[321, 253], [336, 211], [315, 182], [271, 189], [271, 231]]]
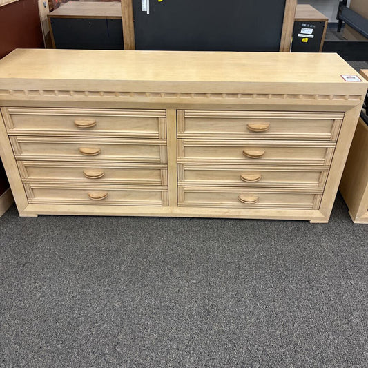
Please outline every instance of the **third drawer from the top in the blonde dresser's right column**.
[[209, 166], [179, 164], [178, 183], [189, 186], [257, 186], [323, 188], [328, 168]]

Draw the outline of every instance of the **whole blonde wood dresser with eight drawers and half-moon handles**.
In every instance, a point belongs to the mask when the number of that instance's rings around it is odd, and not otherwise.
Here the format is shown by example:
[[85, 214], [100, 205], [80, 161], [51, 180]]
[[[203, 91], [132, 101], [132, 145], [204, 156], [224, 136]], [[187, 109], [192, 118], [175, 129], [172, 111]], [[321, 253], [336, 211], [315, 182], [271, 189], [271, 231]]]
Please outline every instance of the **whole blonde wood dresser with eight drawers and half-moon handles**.
[[15, 50], [19, 213], [327, 222], [368, 86], [341, 75], [333, 54]]

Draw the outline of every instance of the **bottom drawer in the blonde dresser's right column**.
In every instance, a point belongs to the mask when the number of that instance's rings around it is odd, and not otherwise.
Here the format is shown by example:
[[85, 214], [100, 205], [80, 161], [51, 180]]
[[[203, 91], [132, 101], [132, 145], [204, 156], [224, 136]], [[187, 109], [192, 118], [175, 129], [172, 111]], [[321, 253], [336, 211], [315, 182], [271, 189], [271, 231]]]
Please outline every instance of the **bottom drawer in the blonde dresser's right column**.
[[244, 209], [318, 209], [322, 189], [178, 187], [178, 206]]

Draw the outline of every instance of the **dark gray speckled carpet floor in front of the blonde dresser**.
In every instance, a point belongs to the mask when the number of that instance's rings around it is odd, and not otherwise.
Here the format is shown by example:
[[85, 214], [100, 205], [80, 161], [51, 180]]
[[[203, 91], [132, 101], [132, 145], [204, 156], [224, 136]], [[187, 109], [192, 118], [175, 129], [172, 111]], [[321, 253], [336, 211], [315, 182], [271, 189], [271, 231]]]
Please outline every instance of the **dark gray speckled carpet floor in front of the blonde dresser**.
[[368, 226], [0, 219], [0, 367], [367, 367]]

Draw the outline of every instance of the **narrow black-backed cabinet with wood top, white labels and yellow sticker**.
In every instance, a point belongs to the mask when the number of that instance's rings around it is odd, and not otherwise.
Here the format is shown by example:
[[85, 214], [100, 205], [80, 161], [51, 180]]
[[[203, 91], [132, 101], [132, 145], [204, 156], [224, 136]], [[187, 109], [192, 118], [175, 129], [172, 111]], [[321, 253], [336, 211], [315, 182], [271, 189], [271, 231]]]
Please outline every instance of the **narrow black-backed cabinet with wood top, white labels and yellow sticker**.
[[[309, 4], [296, 6], [292, 52], [322, 52], [325, 43], [328, 17]], [[302, 36], [302, 30], [309, 30]], [[309, 35], [309, 33], [311, 34]], [[313, 37], [311, 37], [313, 36]]]

